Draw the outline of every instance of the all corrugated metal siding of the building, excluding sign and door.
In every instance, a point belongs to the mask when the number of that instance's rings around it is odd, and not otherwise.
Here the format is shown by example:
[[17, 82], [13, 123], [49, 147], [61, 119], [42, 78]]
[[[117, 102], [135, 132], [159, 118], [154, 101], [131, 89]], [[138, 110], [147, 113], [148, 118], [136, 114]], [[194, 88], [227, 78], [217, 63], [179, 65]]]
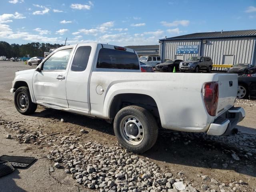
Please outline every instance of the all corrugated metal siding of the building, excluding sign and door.
[[[199, 50], [198, 54], [183, 54], [184, 60], [190, 56], [209, 56], [212, 58], [213, 64], [220, 65], [223, 64], [223, 55], [234, 55], [233, 64], [252, 63], [256, 43], [255, 37], [206, 39], [206, 41], [207, 43], [202, 44], [202, 50]], [[200, 47], [200, 44], [200, 39], [163, 41], [163, 60], [174, 59], [177, 55], [177, 45], [199, 45]], [[161, 53], [161, 50], [159, 52]], [[224, 70], [224, 68], [221, 70]]]

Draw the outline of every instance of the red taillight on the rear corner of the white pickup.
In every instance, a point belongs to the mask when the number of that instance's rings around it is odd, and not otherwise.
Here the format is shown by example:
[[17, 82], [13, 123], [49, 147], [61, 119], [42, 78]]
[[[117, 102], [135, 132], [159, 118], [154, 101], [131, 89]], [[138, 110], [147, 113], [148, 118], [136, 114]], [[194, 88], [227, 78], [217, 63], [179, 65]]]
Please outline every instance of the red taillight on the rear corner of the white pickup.
[[206, 82], [203, 88], [203, 97], [206, 110], [210, 116], [216, 115], [219, 98], [218, 82]]

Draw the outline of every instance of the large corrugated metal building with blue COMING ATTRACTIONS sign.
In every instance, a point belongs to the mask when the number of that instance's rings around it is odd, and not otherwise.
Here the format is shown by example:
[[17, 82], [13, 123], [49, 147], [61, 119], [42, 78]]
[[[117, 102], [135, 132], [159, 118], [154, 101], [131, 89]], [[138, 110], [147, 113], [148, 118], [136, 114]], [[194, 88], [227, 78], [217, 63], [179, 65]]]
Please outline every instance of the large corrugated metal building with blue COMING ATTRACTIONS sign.
[[256, 65], [256, 30], [193, 33], [160, 39], [159, 42], [162, 62], [209, 56], [215, 65]]

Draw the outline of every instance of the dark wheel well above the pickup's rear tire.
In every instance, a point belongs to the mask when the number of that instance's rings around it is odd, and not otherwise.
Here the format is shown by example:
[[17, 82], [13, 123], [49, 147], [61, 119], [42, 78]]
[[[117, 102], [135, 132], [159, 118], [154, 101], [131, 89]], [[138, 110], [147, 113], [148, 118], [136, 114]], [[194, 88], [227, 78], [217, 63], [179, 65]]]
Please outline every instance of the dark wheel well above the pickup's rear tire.
[[151, 112], [157, 121], [160, 120], [155, 100], [148, 95], [133, 93], [118, 94], [114, 97], [110, 105], [110, 118], [114, 119], [120, 109], [130, 105], [143, 107]]

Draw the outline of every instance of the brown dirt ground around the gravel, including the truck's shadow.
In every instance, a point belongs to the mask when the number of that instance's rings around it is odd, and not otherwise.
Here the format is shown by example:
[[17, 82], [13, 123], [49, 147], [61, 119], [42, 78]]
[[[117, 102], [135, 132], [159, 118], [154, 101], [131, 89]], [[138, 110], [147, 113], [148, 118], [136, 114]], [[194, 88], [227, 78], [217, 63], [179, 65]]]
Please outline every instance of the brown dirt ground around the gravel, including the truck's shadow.
[[[0, 62], [0, 121], [17, 122], [22, 128], [31, 131], [42, 131], [44, 134], [60, 133], [60, 135], [81, 136], [80, 130], [88, 131], [85, 139], [79, 142], [95, 140], [105, 145], [116, 144], [112, 124], [104, 120], [92, 119], [76, 114], [61, 112], [38, 106], [35, 114], [23, 116], [13, 104], [10, 93], [14, 72], [35, 68], [23, 62]], [[207, 137], [204, 134], [186, 134], [161, 131], [155, 146], [142, 156], [150, 158], [162, 169], [170, 170], [174, 175], [182, 171], [186, 180], [200, 186], [205, 182], [201, 175], [216, 178], [221, 183], [229, 184], [243, 180], [248, 184], [246, 191], [256, 191], [256, 153], [246, 157], [249, 149], [255, 151], [256, 146], [256, 101], [238, 103], [246, 111], [246, 117], [239, 123], [239, 133], [229, 138]], [[61, 122], [61, 118], [64, 122]], [[18, 155], [33, 156], [38, 160], [27, 169], [16, 169], [14, 173], [0, 178], [0, 191], [34, 192], [34, 191], [89, 191], [76, 184], [75, 180], [63, 170], [49, 172], [52, 162], [47, 160], [48, 146], [18, 144], [16, 139], [4, 138], [6, 134], [16, 136], [0, 125], [0, 156]], [[58, 136], [58, 135], [57, 135]], [[250, 144], [240, 144], [250, 140]], [[232, 159], [231, 154], [239, 154], [240, 160]], [[223, 164], [228, 164], [224, 168]], [[216, 188], [220, 191], [220, 188]], [[204, 191], [204, 190], [202, 190]]]

